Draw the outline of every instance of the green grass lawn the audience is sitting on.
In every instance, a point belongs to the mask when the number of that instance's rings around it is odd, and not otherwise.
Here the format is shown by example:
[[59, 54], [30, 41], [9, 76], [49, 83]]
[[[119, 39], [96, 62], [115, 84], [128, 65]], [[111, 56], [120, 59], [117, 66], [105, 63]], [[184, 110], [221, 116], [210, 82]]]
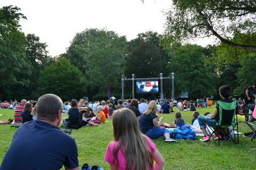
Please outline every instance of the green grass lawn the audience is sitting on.
[[[205, 112], [213, 113], [213, 108], [198, 108], [200, 114]], [[174, 108], [174, 111], [177, 111]], [[0, 120], [13, 118], [14, 110], [0, 109]], [[193, 112], [181, 112], [185, 123], [191, 124]], [[67, 117], [66, 114], [62, 114]], [[164, 116], [163, 123], [171, 124], [175, 117], [174, 114], [158, 114]], [[113, 138], [112, 120], [107, 119], [107, 123], [99, 126], [83, 126], [79, 130], [72, 130], [70, 134], [75, 137], [78, 147], [79, 166], [84, 163], [99, 165], [103, 169], [110, 169], [103, 159], [105, 150]], [[5, 152], [11, 144], [13, 134], [17, 128], [10, 128], [10, 124], [0, 125], [0, 163], [2, 163]], [[244, 122], [238, 123], [239, 132], [251, 131]], [[200, 139], [202, 137], [198, 137]], [[223, 146], [215, 146], [214, 142], [200, 142], [199, 140], [179, 140], [178, 143], [165, 143], [164, 139], [153, 139], [156, 147], [165, 159], [163, 169], [255, 169], [256, 139], [250, 141], [249, 138], [239, 135], [239, 144], [235, 145], [232, 141], [224, 143]], [[40, 146], [38, 146], [40, 147]], [[64, 169], [64, 168], [62, 168]]]

